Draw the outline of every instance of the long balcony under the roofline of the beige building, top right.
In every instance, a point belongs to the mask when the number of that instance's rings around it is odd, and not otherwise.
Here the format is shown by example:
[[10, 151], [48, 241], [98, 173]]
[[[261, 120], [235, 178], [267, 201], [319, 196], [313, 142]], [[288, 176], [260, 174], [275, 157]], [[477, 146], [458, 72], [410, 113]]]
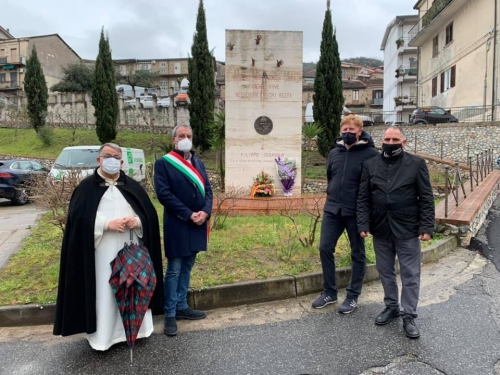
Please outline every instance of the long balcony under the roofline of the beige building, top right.
[[436, 0], [408, 32], [411, 47], [421, 47], [445, 27], [468, 0]]

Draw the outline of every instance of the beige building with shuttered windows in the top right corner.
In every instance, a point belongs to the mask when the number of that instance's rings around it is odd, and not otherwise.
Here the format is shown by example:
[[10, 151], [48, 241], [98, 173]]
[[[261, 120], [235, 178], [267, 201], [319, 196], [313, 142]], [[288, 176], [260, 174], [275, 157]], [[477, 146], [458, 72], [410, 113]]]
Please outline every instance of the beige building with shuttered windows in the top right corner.
[[419, 48], [419, 106], [498, 104], [497, 3], [417, 1], [418, 22], [409, 32], [409, 44]]

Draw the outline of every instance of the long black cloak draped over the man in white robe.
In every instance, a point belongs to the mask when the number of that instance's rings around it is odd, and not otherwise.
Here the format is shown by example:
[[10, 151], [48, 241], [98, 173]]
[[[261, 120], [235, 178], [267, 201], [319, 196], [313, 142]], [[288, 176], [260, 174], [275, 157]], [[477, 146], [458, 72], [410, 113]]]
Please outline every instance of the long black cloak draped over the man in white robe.
[[[123, 171], [116, 187], [141, 219], [142, 240], [157, 277], [150, 308], [153, 314], [163, 314], [163, 266], [156, 209], [140, 184]], [[71, 196], [61, 248], [54, 335], [96, 331], [94, 224], [97, 207], [107, 189], [96, 169]]]

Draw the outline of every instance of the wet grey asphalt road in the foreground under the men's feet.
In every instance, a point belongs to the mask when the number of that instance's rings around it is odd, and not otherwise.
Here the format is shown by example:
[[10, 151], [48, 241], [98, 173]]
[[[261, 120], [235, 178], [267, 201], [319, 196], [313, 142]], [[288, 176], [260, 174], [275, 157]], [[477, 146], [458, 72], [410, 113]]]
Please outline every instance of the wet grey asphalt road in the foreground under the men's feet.
[[[367, 284], [356, 311], [313, 311], [315, 296], [211, 311], [181, 322], [180, 334], [139, 340], [135, 363], [118, 344], [101, 353], [85, 339], [59, 338], [50, 326], [1, 328], [1, 374], [500, 374], [500, 273], [484, 257], [457, 249], [423, 268], [422, 336], [400, 320], [373, 324], [380, 283]], [[8, 359], [8, 360], [6, 360]]]

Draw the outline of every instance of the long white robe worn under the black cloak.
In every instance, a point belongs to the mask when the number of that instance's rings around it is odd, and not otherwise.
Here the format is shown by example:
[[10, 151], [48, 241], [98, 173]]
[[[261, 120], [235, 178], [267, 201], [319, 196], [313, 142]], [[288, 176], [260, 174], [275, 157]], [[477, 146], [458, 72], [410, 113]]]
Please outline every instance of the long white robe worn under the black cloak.
[[[106, 179], [107, 182], [110, 182]], [[134, 216], [140, 223], [136, 213], [123, 197], [118, 188], [111, 186], [106, 190], [95, 220], [95, 271], [96, 271], [96, 314], [97, 331], [87, 335], [90, 346], [95, 350], [108, 350], [112, 345], [126, 341], [125, 330], [114, 293], [109, 285], [111, 276], [111, 261], [125, 242], [130, 241], [130, 230], [124, 233], [107, 231], [111, 220]], [[134, 230], [134, 242], [142, 238], [142, 227]], [[137, 243], [137, 242], [136, 242]], [[149, 337], [153, 333], [153, 316], [149, 309], [142, 321], [137, 338]]]

